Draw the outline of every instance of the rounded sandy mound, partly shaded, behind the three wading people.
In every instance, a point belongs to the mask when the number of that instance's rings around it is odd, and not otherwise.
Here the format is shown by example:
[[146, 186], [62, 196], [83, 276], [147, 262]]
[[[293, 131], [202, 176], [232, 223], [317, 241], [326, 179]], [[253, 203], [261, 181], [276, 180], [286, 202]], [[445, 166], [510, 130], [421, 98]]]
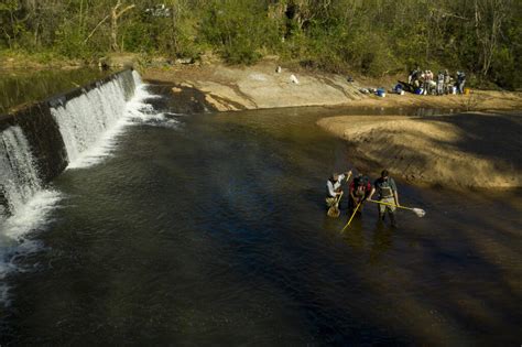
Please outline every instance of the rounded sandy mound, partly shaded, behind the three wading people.
[[340, 116], [318, 124], [354, 144], [362, 170], [388, 167], [406, 180], [443, 186], [522, 186], [521, 116]]

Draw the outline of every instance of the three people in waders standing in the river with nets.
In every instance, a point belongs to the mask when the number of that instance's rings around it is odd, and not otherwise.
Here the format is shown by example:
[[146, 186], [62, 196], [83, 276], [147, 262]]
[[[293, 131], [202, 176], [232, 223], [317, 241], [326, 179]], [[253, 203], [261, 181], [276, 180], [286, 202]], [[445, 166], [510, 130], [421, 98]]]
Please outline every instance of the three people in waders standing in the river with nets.
[[[345, 173], [334, 173], [326, 183], [326, 207], [338, 208], [340, 197], [342, 196], [342, 184], [351, 177], [351, 171]], [[395, 181], [390, 177], [388, 170], [381, 172], [373, 184], [366, 175], [358, 174], [348, 185], [349, 214], [361, 214], [362, 207], [367, 200], [376, 202], [378, 205], [379, 220], [384, 220], [385, 215], [390, 216], [391, 225], [396, 226], [395, 209], [399, 207], [399, 193]], [[377, 193], [378, 200], [372, 200]]]

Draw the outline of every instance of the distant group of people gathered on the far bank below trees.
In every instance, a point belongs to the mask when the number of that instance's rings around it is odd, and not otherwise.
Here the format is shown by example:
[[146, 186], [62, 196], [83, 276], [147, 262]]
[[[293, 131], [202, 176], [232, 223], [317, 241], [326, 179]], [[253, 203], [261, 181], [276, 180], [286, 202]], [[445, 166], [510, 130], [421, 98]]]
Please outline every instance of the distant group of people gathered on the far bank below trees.
[[435, 76], [429, 69], [422, 71], [418, 66], [411, 71], [407, 83], [413, 87], [414, 93], [423, 95], [445, 95], [464, 94], [466, 85], [466, 74], [457, 72], [452, 76], [447, 69], [439, 71]]

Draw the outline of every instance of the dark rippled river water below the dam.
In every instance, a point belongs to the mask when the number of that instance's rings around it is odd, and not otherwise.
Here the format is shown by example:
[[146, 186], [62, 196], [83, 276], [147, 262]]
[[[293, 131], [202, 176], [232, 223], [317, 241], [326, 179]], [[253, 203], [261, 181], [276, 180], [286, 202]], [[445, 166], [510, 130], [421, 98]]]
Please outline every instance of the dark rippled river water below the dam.
[[340, 232], [347, 200], [330, 219], [324, 194], [349, 152], [315, 124], [338, 110], [187, 116], [151, 102], [164, 117], [53, 182], [62, 199], [8, 278], [0, 344], [522, 341], [521, 192], [398, 180], [424, 218], [401, 212], [392, 229], [366, 206]]

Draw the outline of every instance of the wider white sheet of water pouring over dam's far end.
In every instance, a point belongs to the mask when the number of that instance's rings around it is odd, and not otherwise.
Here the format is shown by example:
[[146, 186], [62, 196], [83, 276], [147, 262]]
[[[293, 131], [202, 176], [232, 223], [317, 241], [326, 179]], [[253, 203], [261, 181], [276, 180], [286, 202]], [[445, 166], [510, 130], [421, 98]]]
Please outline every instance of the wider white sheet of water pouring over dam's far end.
[[140, 84], [137, 72], [127, 72], [73, 99], [54, 102], [51, 113], [59, 127], [69, 167], [122, 118], [127, 101]]

